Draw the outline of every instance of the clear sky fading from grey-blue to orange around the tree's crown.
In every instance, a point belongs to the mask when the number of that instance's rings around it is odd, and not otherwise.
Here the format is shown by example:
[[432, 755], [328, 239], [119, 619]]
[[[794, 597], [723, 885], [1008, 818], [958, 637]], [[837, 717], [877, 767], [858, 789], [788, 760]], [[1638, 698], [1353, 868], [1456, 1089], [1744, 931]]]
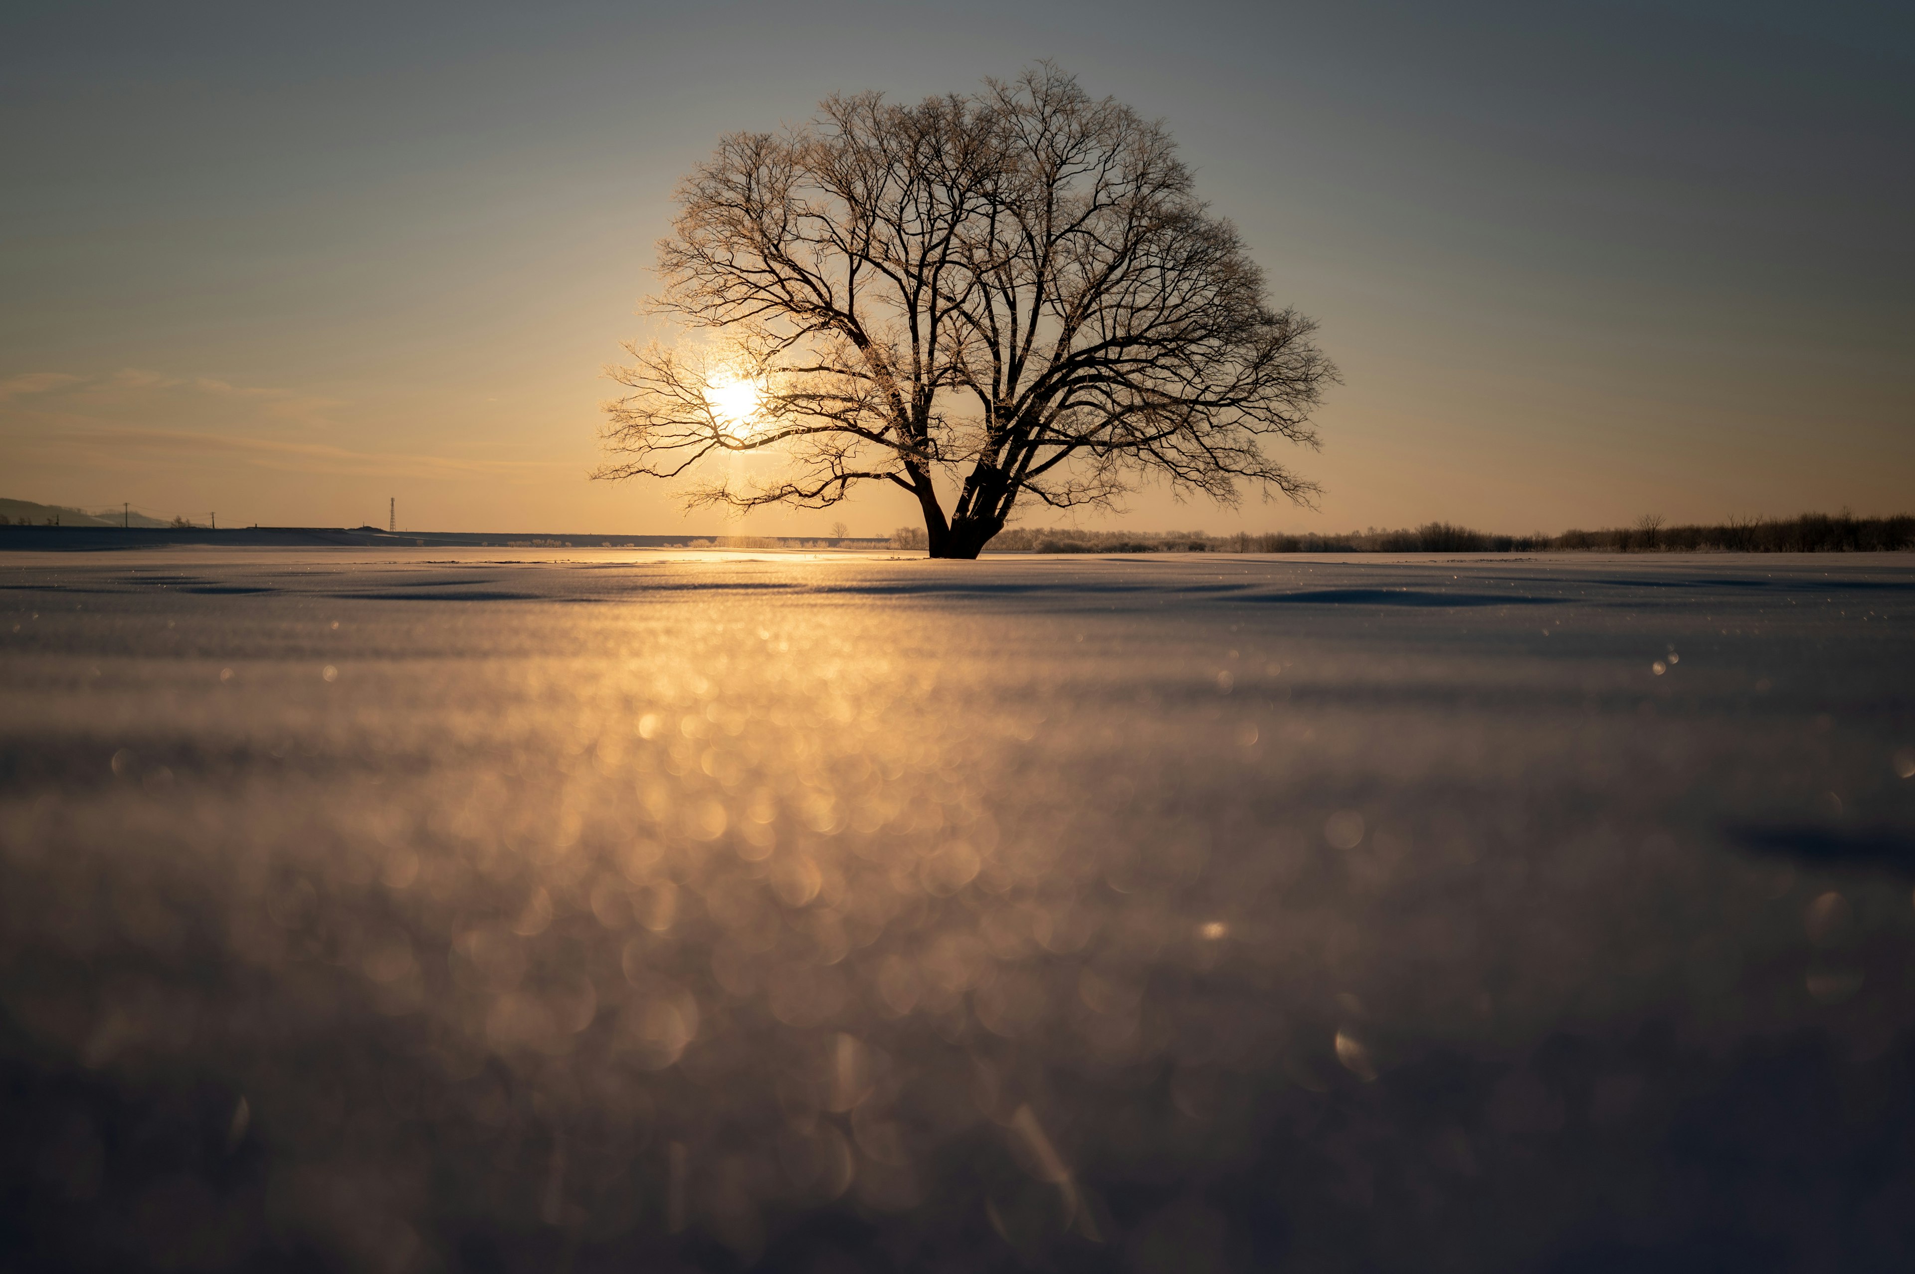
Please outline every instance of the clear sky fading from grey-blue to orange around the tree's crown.
[[[1057, 57], [1164, 117], [1344, 370], [1321, 512], [1915, 500], [1915, 17], [1783, 4], [13, 4], [0, 494], [222, 525], [889, 531], [605, 487], [674, 180], [831, 90]], [[1048, 523], [1051, 517], [1036, 515]]]

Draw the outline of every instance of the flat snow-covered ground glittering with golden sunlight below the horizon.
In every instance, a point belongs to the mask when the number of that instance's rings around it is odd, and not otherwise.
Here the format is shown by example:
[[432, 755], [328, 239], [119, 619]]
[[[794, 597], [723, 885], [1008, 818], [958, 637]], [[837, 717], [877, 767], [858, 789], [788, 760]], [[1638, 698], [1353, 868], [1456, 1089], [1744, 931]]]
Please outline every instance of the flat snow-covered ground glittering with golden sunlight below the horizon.
[[1915, 559], [504, 556], [0, 556], [0, 1266], [1915, 1264]]

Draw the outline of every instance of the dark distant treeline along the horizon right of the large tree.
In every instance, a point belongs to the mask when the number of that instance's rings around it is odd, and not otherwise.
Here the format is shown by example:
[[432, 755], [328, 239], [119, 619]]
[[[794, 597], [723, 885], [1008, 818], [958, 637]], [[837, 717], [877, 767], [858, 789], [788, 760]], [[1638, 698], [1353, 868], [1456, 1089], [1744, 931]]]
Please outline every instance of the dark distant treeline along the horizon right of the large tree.
[[[908, 531], [908, 529], [906, 529]], [[910, 540], [915, 540], [910, 542]], [[923, 531], [892, 538], [896, 548], [921, 548]], [[1716, 527], [1668, 527], [1641, 517], [1633, 527], [1565, 531], [1563, 535], [1490, 535], [1432, 521], [1404, 531], [1348, 535], [1205, 535], [1203, 531], [1059, 531], [1013, 527], [990, 550], [1013, 554], [1856, 554], [1915, 548], [1915, 515], [1731, 519]]]

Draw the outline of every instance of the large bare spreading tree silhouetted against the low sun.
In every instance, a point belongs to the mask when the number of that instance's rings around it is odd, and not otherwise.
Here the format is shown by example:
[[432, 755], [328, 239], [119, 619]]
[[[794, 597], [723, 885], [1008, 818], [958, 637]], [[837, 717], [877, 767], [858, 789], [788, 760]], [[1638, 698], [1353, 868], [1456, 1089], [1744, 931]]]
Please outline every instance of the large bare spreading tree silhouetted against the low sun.
[[1262, 450], [1318, 444], [1316, 324], [1272, 308], [1160, 125], [1051, 63], [919, 105], [829, 98], [724, 138], [676, 197], [655, 307], [705, 339], [624, 347], [594, 477], [684, 475], [689, 504], [737, 510], [894, 483], [933, 557], [977, 557], [1025, 494], [1318, 490]]

